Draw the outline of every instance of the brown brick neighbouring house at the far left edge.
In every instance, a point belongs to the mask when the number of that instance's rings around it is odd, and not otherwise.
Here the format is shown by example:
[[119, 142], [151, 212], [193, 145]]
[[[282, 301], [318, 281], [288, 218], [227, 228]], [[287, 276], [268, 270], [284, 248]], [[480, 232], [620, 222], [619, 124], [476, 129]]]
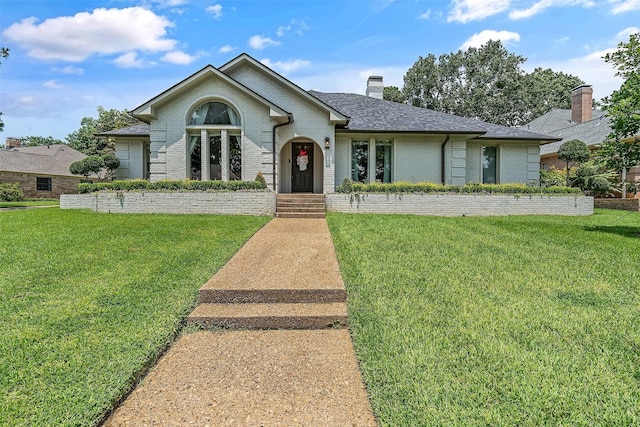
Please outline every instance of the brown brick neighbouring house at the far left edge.
[[69, 166], [85, 157], [64, 144], [21, 147], [19, 140], [7, 138], [0, 149], [0, 184], [18, 183], [29, 198], [74, 194], [83, 177], [71, 174]]

